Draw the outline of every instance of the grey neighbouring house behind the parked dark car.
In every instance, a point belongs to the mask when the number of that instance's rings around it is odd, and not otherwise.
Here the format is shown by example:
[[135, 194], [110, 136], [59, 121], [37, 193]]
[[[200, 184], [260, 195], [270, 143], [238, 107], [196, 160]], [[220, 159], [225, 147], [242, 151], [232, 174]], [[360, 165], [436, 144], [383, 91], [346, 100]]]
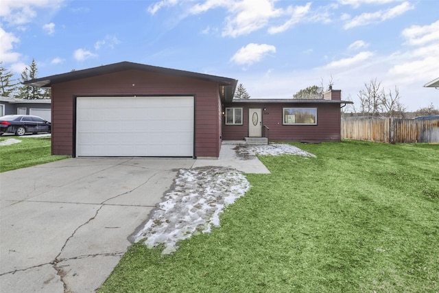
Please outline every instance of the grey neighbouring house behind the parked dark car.
[[35, 115], [51, 121], [51, 99], [15, 99], [0, 97], [0, 116]]

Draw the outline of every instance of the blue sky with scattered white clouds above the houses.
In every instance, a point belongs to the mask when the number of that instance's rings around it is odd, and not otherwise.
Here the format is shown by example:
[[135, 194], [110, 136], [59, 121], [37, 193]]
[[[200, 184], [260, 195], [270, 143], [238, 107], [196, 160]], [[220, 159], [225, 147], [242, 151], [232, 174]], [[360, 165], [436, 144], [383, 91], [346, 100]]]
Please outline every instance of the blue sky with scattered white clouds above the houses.
[[0, 61], [38, 78], [129, 61], [226, 78], [251, 98], [308, 86], [342, 90], [359, 107], [372, 80], [407, 110], [439, 90], [439, 1], [2, 0]]

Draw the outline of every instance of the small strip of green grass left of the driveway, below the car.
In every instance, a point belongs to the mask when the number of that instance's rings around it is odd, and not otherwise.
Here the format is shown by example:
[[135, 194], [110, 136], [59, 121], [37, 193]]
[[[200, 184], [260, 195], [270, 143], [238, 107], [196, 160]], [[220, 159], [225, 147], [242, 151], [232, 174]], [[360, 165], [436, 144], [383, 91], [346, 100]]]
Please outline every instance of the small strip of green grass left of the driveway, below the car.
[[21, 169], [53, 161], [66, 159], [68, 156], [51, 156], [51, 137], [1, 137], [19, 139], [21, 143], [0, 145], [0, 172]]

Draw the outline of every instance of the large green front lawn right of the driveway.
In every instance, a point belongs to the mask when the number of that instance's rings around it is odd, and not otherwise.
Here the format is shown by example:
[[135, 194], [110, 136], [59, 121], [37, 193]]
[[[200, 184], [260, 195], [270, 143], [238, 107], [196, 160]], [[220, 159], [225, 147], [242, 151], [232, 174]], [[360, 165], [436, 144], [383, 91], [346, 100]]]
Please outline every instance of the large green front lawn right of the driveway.
[[99, 292], [438, 292], [439, 145], [300, 144], [221, 227], [130, 247]]

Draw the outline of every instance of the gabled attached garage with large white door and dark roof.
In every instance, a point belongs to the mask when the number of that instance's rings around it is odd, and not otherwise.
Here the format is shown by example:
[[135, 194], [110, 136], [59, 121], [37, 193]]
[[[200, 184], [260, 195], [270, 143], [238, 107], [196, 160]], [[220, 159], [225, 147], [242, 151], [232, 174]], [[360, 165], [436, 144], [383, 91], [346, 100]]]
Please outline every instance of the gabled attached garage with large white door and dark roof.
[[24, 84], [51, 89], [51, 154], [213, 159], [237, 80], [119, 62]]

